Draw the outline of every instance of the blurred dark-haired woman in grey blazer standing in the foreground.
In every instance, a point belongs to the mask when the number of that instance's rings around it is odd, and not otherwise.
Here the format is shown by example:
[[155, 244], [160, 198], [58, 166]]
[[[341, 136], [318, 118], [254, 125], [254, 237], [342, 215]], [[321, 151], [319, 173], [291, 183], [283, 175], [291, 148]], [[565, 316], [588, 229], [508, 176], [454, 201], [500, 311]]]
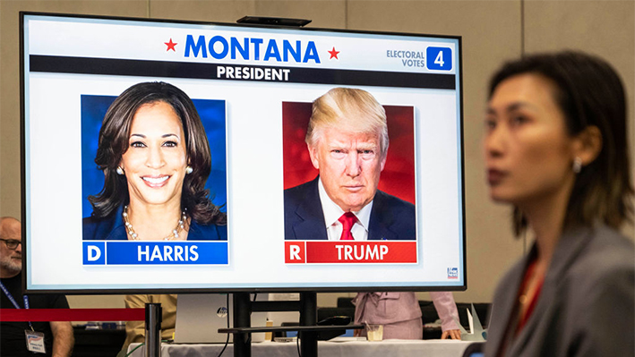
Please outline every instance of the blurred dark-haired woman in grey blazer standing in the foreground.
[[485, 355], [632, 356], [635, 250], [622, 81], [579, 52], [531, 55], [493, 76], [490, 196], [514, 207], [528, 255], [502, 278]]

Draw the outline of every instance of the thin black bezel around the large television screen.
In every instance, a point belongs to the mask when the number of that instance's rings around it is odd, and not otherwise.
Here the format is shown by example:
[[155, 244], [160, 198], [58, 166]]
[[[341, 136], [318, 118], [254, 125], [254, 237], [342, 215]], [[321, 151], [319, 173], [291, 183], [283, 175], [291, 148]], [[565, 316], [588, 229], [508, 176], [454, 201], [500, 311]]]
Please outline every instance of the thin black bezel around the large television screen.
[[[378, 35], [378, 36], [403, 36], [413, 38], [448, 38], [457, 41], [457, 76], [459, 76], [459, 89], [457, 91], [459, 108], [459, 167], [460, 173], [458, 175], [460, 180], [460, 213], [462, 224], [462, 237], [460, 242], [462, 244], [462, 259], [463, 268], [461, 269], [461, 276], [463, 285], [442, 285], [442, 286], [373, 286], [373, 287], [360, 287], [360, 286], [331, 286], [331, 287], [227, 287], [227, 288], [150, 288], [150, 289], [77, 289], [77, 290], [64, 290], [64, 289], [28, 289], [27, 288], [27, 258], [28, 257], [28, 244], [24, 244], [22, 247], [22, 290], [25, 293], [64, 293], [70, 295], [87, 295], [87, 294], [131, 294], [131, 293], [303, 293], [303, 292], [318, 292], [318, 293], [350, 293], [350, 292], [400, 292], [400, 291], [413, 291], [413, 292], [434, 292], [434, 291], [465, 291], [468, 288], [468, 265], [467, 265], [467, 232], [466, 232], [466, 194], [465, 194], [465, 135], [464, 135], [464, 98], [463, 98], [463, 51], [462, 51], [462, 37], [457, 35], [438, 35], [427, 33], [411, 33], [411, 32], [390, 32], [390, 31], [377, 31], [377, 30], [348, 30], [348, 29], [325, 29], [325, 28], [307, 28], [307, 27], [290, 27], [290, 26], [277, 26], [267, 24], [252, 24], [252, 23], [227, 23], [217, 21], [186, 21], [186, 20], [174, 20], [174, 19], [149, 19], [149, 18], [137, 18], [137, 17], [123, 17], [123, 16], [106, 16], [106, 15], [85, 15], [77, 13], [46, 13], [46, 12], [20, 12], [20, 142], [21, 142], [21, 234], [22, 237], [27, 236], [26, 229], [26, 157], [25, 157], [25, 53], [24, 53], [24, 18], [25, 16], [47, 16], [47, 17], [59, 17], [59, 18], [76, 18], [86, 20], [102, 20], [102, 21], [139, 21], [148, 23], [167, 23], [167, 24], [192, 24], [192, 25], [211, 25], [211, 26], [223, 26], [229, 28], [252, 28], [258, 29], [275, 29], [275, 30], [297, 30], [306, 32], [332, 32], [332, 33], [349, 33], [349, 34], [364, 34], [364, 35]], [[23, 239], [24, 240], [24, 239]], [[24, 242], [24, 241], [23, 241]]]

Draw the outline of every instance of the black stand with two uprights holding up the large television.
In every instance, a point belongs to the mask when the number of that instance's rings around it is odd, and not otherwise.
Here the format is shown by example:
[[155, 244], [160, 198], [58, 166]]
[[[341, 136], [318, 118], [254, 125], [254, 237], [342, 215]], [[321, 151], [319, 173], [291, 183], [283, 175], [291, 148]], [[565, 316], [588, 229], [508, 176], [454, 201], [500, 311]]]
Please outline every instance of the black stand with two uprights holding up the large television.
[[[299, 302], [252, 302], [249, 293], [234, 293], [234, 327], [219, 328], [220, 333], [234, 334], [234, 357], [251, 357], [255, 332], [297, 331], [302, 357], [317, 357], [321, 331], [362, 328], [362, 325], [317, 326], [317, 293], [300, 293]], [[250, 327], [252, 311], [300, 311], [300, 326]]]

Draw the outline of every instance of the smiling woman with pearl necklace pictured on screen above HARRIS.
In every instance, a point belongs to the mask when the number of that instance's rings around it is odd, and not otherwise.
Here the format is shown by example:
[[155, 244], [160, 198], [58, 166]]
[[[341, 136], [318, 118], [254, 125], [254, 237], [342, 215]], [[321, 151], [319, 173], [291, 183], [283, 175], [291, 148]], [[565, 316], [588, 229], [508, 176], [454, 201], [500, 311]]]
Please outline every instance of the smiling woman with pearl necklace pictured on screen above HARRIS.
[[105, 182], [89, 197], [84, 240], [227, 240], [227, 216], [204, 188], [210, 145], [181, 89], [126, 89], [104, 117], [95, 163]]

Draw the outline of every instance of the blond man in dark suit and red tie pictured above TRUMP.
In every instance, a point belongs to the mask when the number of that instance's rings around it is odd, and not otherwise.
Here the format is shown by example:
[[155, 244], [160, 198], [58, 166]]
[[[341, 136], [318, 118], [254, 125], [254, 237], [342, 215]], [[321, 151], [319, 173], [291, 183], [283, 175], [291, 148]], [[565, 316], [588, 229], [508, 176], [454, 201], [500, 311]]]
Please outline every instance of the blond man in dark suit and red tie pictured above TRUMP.
[[388, 152], [383, 107], [362, 89], [313, 102], [305, 141], [314, 180], [285, 190], [285, 240], [415, 240], [415, 206], [378, 191]]

